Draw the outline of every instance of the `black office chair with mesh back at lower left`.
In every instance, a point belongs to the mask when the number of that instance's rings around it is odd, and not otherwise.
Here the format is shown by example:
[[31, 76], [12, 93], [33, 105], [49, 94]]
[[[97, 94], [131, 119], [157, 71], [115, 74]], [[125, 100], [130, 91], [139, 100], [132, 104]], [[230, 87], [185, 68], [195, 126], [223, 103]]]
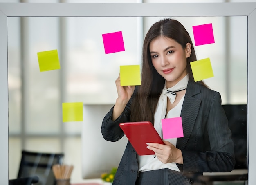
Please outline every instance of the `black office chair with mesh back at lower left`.
[[38, 176], [36, 185], [55, 185], [52, 165], [62, 164], [64, 154], [29, 152], [22, 150], [18, 178]]

